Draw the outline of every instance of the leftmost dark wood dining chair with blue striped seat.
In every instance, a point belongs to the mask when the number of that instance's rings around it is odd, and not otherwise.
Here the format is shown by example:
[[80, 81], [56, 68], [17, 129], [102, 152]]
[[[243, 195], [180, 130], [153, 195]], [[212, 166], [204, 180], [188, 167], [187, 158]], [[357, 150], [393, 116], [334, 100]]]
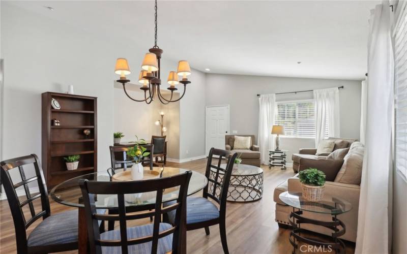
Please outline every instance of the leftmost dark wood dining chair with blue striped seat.
[[[23, 166], [34, 165], [33, 177], [27, 178]], [[78, 248], [78, 210], [51, 215], [47, 187], [40, 161], [35, 154], [12, 158], [0, 163], [1, 184], [4, 186], [7, 200], [13, 216], [17, 253], [49, 253]], [[10, 170], [18, 168], [21, 181], [14, 183]], [[17, 173], [17, 172], [12, 172]], [[17, 177], [17, 175], [13, 175]], [[31, 194], [28, 183], [38, 183], [39, 193]], [[20, 202], [16, 188], [23, 187], [26, 200]], [[36, 211], [34, 201], [41, 200], [41, 208]], [[31, 218], [24, 214], [23, 207], [28, 205]], [[38, 208], [37, 208], [38, 209]], [[42, 217], [41, 223], [28, 235], [26, 229], [37, 219]], [[99, 227], [99, 226], [98, 226]]]

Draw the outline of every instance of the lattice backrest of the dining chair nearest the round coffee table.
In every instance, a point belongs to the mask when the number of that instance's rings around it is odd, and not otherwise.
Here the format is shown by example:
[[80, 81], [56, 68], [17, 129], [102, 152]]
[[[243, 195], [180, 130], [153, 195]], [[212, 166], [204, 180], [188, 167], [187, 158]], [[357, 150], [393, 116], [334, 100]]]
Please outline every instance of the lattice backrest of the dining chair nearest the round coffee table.
[[[214, 157], [214, 155], [218, 157]], [[203, 197], [211, 198], [216, 201], [220, 205], [221, 211], [222, 207], [226, 207], [226, 197], [227, 190], [229, 188], [230, 176], [233, 165], [235, 164], [235, 158], [237, 156], [237, 153], [230, 155], [230, 151], [216, 148], [211, 148], [209, 151], [207, 169], [205, 172], [205, 175], [208, 178], [208, 184], [203, 189]], [[221, 168], [222, 158], [228, 158], [225, 168]], [[216, 160], [217, 166], [213, 165]], [[215, 169], [216, 171], [213, 172], [211, 169]], [[219, 188], [220, 192], [218, 195], [216, 191]], [[225, 211], [225, 209], [226, 208], [223, 210]]]

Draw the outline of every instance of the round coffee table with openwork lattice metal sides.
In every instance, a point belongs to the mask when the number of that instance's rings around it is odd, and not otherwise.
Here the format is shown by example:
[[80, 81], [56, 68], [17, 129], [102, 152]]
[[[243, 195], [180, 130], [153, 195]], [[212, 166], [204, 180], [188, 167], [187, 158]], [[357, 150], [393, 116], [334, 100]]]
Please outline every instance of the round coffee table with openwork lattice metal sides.
[[[225, 168], [222, 164], [221, 168]], [[216, 169], [211, 168], [211, 178], [216, 175]], [[223, 172], [219, 171], [219, 180], [223, 180]], [[213, 184], [209, 187], [213, 190]], [[220, 188], [216, 190], [219, 195]], [[230, 202], [251, 202], [263, 197], [263, 169], [245, 164], [235, 164], [230, 176], [227, 201]]]

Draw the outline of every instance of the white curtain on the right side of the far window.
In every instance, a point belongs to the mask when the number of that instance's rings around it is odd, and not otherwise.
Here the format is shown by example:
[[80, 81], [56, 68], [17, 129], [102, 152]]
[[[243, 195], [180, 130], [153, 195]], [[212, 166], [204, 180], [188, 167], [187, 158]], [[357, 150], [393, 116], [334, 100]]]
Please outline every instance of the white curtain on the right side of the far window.
[[314, 90], [315, 104], [315, 147], [325, 137], [328, 128], [329, 137], [340, 138], [339, 130], [339, 89], [327, 88]]

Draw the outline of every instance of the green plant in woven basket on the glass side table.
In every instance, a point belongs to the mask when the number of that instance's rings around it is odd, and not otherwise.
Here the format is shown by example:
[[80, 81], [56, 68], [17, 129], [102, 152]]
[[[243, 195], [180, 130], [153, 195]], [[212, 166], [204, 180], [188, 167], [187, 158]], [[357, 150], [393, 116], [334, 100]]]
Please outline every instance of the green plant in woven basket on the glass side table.
[[325, 194], [325, 174], [317, 169], [306, 169], [298, 173], [302, 196], [309, 201], [321, 201]]

